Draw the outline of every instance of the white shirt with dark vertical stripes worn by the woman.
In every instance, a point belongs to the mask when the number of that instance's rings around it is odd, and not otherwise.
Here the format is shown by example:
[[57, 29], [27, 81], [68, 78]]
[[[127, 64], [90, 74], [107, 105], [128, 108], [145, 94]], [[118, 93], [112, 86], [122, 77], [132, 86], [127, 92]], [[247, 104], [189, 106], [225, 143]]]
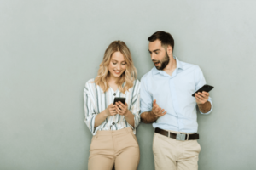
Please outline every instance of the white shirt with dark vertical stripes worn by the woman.
[[[122, 94], [119, 89], [115, 92], [112, 88], [108, 88], [105, 93], [98, 85], [96, 85], [94, 79], [90, 79], [85, 83], [84, 88], [84, 112], [85, 112], [85, 124], [89, 127], [90, 132], [95, 135], [97, 131], [102, 130], [119, 130], [125, 127], [131, 127], [133, 133], [136, 133], [136, 127], [141, 121], [140, 112], [140, 82], [138, 80], [133, 82], [133, 87]], [[125, 84], [125, 83], [124, 83]], [[124, 86], [123, 84], [123, 86]], [[114, 116], [108, 116], [104, 122], [98, 127], [95, 125], [95, 117], [97, 114], [104, 111], [108, 105], [113, 103], [115, 97], [125, 97], [125, 102], [128, 104], [128, 110], [134, 115], [134, 127], [132, 127], [125, 120], [125, 116], [116, 114]]]

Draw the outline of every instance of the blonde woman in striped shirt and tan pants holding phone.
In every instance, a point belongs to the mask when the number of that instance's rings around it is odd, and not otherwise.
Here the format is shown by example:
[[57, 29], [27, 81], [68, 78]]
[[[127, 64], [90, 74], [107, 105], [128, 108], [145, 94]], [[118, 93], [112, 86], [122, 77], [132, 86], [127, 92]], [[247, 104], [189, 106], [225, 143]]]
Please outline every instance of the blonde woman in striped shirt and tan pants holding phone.
[[[125, 42], [114, 41], [105, 51], [95, 79], [84, 88], [85, 123], [93, 134], [89, 170], [135, 170], [140, 159], [135, 136], [140, 122], [140, 82]], [[125, 104], [115, 97], [124, 97]]]

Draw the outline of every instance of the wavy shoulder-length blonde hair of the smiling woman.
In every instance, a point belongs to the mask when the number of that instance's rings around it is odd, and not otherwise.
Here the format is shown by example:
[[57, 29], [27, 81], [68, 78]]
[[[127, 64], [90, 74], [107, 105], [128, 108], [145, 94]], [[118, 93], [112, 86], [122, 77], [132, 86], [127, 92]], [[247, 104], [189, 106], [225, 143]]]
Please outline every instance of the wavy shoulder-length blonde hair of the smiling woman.
[[[108, 71], [108, 65], [113, 53], [115, 52], [120, 52], [123, 54], [126, 62], [126, 69], [116, 82], [120, 92], [125, 94], [125, 91], [127, 91], [129, 88], [132, 88], [133, 81], [137, 79], [137, 70], [133, 65], [130, 50], [126, 46], [125, 42], [114, 41], [108, 46], [105, 51], [103, 61], [100, 65], [98, 75], [94, 82], [96, 85], [100, 86], [104, 92], [108, 90], [108, 79], [110, 74]], [[123, 87], [122, 85], [124, 82], [125, 86]]]

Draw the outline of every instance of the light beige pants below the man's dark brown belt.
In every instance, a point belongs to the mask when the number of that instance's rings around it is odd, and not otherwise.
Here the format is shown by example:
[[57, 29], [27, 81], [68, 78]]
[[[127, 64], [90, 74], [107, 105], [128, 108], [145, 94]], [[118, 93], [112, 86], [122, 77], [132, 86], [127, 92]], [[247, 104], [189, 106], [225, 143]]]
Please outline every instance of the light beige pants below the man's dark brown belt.
[[197, 143], [197, 140], [179, 141], [154, 133], [155, 170], [197, 170], [200, 151], [201, 146]]

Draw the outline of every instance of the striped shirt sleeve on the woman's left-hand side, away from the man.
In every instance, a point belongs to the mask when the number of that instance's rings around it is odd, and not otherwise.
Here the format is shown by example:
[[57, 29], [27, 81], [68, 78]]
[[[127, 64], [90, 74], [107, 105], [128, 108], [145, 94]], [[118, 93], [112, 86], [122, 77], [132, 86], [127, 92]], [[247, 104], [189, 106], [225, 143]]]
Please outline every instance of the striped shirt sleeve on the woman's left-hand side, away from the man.
[[85, 87], [84, 87], [84, 114], [85, 114], [85, 119], [84, 122], [89, 128], [90, 132], [95, 135], [96, 130], [95, 130], [95, 117], [96, 117], [96, 112], [94, 111], [93, 108], [93, 103], [91, 100], [91, 95], [89, 91], [89, 83], [86, 82]]

